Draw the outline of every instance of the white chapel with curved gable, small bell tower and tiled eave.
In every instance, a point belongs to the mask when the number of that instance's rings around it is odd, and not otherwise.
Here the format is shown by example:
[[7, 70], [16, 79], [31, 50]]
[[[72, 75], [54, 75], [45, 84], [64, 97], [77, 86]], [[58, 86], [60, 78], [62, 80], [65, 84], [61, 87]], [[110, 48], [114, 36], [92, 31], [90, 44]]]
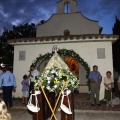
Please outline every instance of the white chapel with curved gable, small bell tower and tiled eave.
[[[14, 45], [14, 74], [17, 80], [16, 97], [21, 96], [21, 81], [24, 74], [29, 74], [30, 65], [39, 59], [39, 55], [52, 53], [53, 46], [65, 49], [77, 54], [73, 59], [79, 58], [84, 63], [78, 61], [78, 78], [80, 79], [80, 93], [87, 93], [86, 65], [92, 70], [93, 65], [97, 65], [99, 72], [103, 76], [106, 71], [113, 73], [112, 43], [118, 36], [101, 34], [102, 27], [99, 22], [85, 17], [77, 11], [76, 0], [60, 0], [57, 2], [57, 12], [47, 21], [37, 26], [35, 38], [22, 38], [9, 40], [9, 44]], [[72, 57], [62, 55], [62, 58]], [[48, 59], [49, 60], [49, 59]], [[40, 72], [44, 69], [48, 60], [38, 62], [37, 68]], [[77, 59], [78, 60], [78, 59]], [[104, 84], [101, 83], [100, 99], [104, 98]]]

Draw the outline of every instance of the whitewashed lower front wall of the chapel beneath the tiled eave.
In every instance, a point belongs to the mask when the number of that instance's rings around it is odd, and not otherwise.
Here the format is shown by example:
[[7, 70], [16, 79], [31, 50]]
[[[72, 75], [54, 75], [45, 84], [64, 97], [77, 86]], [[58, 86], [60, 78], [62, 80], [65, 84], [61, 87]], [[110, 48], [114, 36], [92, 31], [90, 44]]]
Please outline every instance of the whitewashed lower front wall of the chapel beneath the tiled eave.
[[[35, 45], [15, 45], [14, 53], [14, 74], [17, 79], [17, 91], [14, 96], [22, 96], [21, 81], [24, 74], [28, 74], [32, 61], [39, 56], [52, 51], [52, 47], [58, 45], [60, 49], [73, 49], [78, 53], [92, 69], [93, 65], [98, 65], [101, 75], [104, 77], [107, 70], [113, 72], [112, 47], [111, 42], [79, 42], [79, 43], [59, 43], [59, 44], [35, 44]], [[97, 59], [97, 48], [105, 48], [105, 59]], [[26, 51], [26, 60], [19, 61], [19, 51]], [[85, 91], [80, 91], [85, 92]], [[87, 92], [87, 91], [86, 91]], [[104, 85], [101, 84], [100, 99], [104, 97]]]

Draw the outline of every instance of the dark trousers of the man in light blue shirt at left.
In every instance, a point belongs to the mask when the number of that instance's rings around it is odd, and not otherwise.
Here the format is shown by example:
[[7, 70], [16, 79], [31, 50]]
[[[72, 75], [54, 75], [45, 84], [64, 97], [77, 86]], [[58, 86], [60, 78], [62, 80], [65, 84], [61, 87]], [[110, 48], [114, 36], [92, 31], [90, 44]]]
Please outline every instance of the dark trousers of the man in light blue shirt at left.
[[13, 86], [3, 86], [3, 100], [7, 108], [13, 106], [12, 90], [13, 90]]

